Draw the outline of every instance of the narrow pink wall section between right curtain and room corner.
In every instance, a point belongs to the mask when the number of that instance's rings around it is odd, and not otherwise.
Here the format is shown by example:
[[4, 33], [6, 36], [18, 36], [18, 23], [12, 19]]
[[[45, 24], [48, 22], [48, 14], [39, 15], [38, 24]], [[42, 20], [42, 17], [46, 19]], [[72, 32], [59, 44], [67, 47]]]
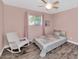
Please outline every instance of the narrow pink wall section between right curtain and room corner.
[[48, 35], [48, 34], [52, 34], [53, 33], [53, 18], [52, 18], [52, 15], [45, 15], [44, 16], [44, 20], [45, 21], [48, 21], [48, 25], [45, 26], [45, 34]]

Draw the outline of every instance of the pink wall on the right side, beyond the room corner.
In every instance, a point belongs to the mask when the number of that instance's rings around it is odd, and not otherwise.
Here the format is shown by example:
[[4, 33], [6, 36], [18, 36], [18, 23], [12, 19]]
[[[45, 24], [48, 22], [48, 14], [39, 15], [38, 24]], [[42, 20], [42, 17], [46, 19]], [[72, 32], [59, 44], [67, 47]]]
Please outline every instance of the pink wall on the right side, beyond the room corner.
[[67, 32], [70, 41], [78, 42], [78, 8], [52, 15], [54, 29]]

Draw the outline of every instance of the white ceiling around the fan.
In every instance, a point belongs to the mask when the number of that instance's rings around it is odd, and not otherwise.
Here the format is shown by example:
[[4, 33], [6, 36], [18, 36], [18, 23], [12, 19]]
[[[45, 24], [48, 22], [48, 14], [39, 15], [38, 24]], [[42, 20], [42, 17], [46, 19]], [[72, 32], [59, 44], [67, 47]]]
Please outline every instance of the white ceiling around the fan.
[[[51, 1], [53, 2], [55, 0]], [[60, 5], [58, 9], [51, 9], [47, 11], [44, 7], [38, 7], [39, 5], [44, 5], [41, 0], [3, 0], [3, 2], [7, 5], [26, 8], [34, 11], [46, 12], [48, 14], [62, 12], [77, 7], [78, 5], [78, 0], [59, 0]]]

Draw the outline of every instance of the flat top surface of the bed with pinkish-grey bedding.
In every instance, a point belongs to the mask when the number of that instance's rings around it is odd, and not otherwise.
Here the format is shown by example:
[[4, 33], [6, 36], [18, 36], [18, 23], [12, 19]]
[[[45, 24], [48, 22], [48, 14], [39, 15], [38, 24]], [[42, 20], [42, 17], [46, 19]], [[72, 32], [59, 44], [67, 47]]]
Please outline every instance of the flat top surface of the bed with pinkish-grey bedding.
[[48, 44], [50, 42], [55, 42], [61, 39], [65, 39], [65, 37], [57, 38], [53, 35], [48, 35], [48, 36], [41, 36], [39, 38], [36, 38], [36, 41], [42, 42], [43, 44]]

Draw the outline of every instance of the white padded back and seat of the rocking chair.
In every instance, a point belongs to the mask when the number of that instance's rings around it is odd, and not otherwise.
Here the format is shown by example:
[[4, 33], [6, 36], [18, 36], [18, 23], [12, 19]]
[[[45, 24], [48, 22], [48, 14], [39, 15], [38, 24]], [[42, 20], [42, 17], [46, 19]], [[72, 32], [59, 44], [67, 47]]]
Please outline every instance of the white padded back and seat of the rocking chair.
[[[18, 44], [20, 42], [20, 38], [18, 37], [16, 32], [10, 32], [6, 34], [7, 40], [9, 42], [9, 46], [11, 49], [17, 49]], [[17, 44], [18, 43], [18, 44]]]

